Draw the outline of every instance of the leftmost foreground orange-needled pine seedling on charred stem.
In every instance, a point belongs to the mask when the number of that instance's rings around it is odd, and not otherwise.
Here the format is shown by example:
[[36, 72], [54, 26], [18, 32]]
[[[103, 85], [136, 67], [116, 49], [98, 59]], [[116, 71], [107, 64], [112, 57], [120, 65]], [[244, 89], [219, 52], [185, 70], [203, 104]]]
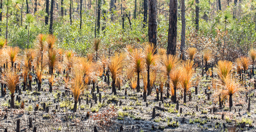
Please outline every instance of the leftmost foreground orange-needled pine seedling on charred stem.
[[0, 81], [3, 84], [6, 84], [6, 86], [8, 87], [8, 89], [11, 92], [11, 109], [14, 109], [14, 92], [15, 92], [15, 88], [16, 86], [19, 84], [19, 75], [17, 74], [17, 71], [15, 69], [12, 68], [7, 68], [3, 71], [3, 73], [0, 76]]

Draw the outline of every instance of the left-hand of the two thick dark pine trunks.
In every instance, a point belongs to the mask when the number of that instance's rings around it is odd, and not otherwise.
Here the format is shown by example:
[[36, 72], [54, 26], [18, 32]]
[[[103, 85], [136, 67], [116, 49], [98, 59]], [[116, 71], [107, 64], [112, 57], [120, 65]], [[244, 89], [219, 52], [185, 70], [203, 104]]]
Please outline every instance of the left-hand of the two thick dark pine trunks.
[[148, 8], [148, 41], [153, 43], [154, 47], [157, 46], [157, 22], [156, 22], [156, 0], [149, 0]]

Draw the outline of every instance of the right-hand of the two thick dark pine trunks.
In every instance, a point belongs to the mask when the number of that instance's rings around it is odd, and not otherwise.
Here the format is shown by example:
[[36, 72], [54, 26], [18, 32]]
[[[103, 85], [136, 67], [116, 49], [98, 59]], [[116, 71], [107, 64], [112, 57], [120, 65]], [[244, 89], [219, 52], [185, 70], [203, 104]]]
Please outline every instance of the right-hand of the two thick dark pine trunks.
[[167, 54], [175, 55], [177, 40], [177, 0], [170, 0]]

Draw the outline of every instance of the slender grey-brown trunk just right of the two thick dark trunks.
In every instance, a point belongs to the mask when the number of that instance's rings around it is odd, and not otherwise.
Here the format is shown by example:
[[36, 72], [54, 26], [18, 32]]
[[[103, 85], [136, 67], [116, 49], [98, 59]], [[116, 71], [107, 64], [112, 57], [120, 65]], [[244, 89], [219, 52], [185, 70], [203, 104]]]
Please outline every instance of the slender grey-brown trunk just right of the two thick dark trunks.
[[186, 19], [185, 19], [185, 0], [181, 0], [181, 54], [182, 60], [184, 60], [184, 50], [185, 47], [185, 35], [186, 35]]

